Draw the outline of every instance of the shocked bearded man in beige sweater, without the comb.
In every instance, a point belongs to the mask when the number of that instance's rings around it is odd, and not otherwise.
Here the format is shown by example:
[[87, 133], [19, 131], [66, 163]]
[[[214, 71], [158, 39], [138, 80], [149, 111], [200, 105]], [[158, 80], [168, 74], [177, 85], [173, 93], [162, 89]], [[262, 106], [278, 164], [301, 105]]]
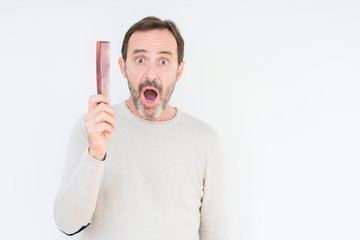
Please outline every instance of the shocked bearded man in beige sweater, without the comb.
[[168, 105], [184, 68], [172, 21], [147, 17], [125, 34], [130, 97], [89, 99], [71, 134], [55, 221], [80, 239], [225, 240], [217, 133]]

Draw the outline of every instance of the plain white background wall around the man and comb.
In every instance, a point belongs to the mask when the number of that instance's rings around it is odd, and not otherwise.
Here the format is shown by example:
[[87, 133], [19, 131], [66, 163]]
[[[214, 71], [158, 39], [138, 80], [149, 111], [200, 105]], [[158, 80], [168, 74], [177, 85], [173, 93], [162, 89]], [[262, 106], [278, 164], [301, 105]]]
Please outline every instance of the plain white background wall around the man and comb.
[[[1, 1], [1, 239], [68, 239], [53, 220], [67, 140], [108, 40], [174, 20], [185, 70], [171, 104], [215, 127], [231, 239], [360, 239], [359, 1]], [[72, 239], [76, 239], [73, 237]]]

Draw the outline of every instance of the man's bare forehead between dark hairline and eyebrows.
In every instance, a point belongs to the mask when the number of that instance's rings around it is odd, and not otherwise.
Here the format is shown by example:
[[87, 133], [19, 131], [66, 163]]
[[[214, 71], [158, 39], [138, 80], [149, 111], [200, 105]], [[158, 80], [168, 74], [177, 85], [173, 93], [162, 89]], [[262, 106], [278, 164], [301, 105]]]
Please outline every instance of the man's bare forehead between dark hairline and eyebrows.
[[149, 53], [169, 51], [177, 57], [176, 39], [167, 29], [135, 31], [129, 39], [128, 54], [133, 55], [136, 50], [145, 50]]

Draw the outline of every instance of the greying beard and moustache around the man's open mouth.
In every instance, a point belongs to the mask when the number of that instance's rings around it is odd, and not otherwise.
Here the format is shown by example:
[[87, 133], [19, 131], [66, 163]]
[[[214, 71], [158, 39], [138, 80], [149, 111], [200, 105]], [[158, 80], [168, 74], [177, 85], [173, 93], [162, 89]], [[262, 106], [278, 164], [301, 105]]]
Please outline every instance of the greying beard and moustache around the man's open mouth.
[[[155, 82], [155, 81], [146, 80], [145, 82], [141, 83], [139, 85], [138, 89], [136, 90], [136, 88], [130, 84], [129, 77], [127, 75], [126, 75], [126, 78], [128, 81], [131, 100], [132, 100], [137, 112], [142, 117], [150, 119], [150, 120], [158, 118], [161, 115], [161, 113], [165, 110], [165, 108], [167, 107], [167, 105], [170, 101], [171, 95], [175, 89], [176, 79], [169, 85], [169, 87], [167, 89], [163, 89], [162, 86], [157, 84], [157, 82]], [[146, 86], [152, 86], [158, 90], [159, 95], [157, 96], [157, 98], [159, 98], [159, 104], [157, 104], [153, 107], [147, 107], [144, 104], [142, 104], [141, 90]]]

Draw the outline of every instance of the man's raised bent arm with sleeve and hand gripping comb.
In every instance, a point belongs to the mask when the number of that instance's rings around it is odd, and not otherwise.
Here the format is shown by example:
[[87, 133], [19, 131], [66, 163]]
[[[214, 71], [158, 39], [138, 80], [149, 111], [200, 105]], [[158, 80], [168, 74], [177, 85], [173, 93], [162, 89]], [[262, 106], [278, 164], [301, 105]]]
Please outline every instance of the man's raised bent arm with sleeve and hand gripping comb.
[[109, 98], [89, 98], [89, 110], [80, 118], [69, 140], [61, 187], [54, 205], [55, 222], [67, 235], [86, 228], [92, 219], [105, 168], [106, 148], [115, 126]]

